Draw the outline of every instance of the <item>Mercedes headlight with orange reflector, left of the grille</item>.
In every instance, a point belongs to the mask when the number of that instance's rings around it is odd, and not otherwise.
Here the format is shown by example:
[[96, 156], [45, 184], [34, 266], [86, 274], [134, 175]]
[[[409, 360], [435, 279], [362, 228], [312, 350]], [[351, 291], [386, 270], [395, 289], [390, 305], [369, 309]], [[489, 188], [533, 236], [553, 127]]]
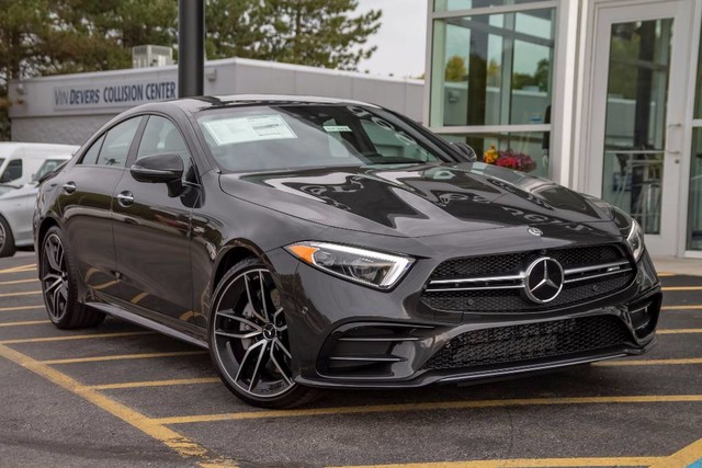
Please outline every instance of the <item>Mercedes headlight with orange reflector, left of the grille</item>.
[[327, 273], [381, 289], [388, 289], [415, 262], [412, 259], [325, 242], [297, 242], [290, 253]]

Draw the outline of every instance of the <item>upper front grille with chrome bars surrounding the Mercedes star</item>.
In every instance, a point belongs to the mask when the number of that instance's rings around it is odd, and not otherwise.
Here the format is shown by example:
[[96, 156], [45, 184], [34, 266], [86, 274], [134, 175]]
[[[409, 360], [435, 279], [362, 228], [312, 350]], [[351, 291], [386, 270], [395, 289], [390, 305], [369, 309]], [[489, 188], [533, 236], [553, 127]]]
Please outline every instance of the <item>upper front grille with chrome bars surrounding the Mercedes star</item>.
[[[547, 304], [533, 303], [523, 294], [523, 271], [539, 256], [557, 260], [565, 273], [561, 294]], [[618, 246], [453, 259], [431, 274], [422, 301], [446, 311], [540, 311], [609, 296], [625, 288], [634, 275]]]

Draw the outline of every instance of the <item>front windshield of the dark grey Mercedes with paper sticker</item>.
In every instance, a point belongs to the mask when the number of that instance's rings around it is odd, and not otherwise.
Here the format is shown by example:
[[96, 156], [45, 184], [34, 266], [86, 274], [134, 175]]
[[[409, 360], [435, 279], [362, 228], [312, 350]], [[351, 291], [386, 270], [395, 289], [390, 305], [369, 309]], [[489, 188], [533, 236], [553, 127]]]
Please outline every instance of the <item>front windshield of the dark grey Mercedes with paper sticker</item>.
[[200, 128], [233, 172], [450, 160], [412, 126], [381, 109], [281, 104], [203, 111]]

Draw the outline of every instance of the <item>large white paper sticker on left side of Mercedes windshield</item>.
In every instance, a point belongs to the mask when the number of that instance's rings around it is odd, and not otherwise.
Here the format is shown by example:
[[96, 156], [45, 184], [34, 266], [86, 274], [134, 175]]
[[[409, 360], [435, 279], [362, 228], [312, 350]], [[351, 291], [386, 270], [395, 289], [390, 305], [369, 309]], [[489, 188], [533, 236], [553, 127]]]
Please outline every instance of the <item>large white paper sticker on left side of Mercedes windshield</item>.
[[204, 125], [217, 145], [297, 138], [280, 115], [220, 118]]

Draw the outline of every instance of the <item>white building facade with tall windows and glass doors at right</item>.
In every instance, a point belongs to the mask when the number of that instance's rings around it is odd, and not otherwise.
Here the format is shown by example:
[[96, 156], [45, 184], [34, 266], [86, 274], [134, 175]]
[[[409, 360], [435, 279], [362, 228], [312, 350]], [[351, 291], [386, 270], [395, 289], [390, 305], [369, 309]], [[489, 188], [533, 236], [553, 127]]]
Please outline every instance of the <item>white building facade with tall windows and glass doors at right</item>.
[[702, 258], [702, 1], [429, 0], [423, 121]]

